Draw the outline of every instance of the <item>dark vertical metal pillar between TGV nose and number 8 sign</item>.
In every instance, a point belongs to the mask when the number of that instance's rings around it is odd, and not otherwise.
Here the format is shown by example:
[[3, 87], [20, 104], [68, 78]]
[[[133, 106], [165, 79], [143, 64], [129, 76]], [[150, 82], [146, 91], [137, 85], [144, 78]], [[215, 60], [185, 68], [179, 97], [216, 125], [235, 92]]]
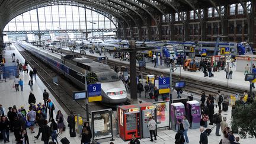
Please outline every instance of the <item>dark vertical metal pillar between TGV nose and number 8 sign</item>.
[[130, 79], [132, 89], [130, 97], [132, 104], [137, 104], [136, 52], [130, 52]]

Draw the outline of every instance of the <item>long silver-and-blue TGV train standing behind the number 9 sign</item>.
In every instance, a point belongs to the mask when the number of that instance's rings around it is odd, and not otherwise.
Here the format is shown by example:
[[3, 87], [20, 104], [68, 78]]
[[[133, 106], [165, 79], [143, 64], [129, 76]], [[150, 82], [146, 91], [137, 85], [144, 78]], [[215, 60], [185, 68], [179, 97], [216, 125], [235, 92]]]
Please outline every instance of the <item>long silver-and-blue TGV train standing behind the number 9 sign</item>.
[[85, 88], [85, 76], [80, 76], [79, 73], [85, 75], [86, 72], [94, 72], [98, 78], [97, 83], [101, 84], [103, 103], [120, 104], [126, 101], [126, 88], [117, 73], [111, 70], [108, 65], [84, 57], [78, 58], [74, 55], [53, 53], [50, 50], [31, 46], [25, 41], [19, 41], [18, 44], [56, 71], [62, 73], [66, 78], [71, 79], [74, 84], [82, 89]]

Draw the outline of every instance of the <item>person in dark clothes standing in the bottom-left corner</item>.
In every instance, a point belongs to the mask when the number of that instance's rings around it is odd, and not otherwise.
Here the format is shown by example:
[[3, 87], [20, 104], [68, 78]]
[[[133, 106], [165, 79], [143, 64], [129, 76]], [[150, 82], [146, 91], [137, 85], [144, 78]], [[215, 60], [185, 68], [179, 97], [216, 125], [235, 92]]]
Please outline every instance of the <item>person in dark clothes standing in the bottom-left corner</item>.
[[4, 143], [9, 142], [9, 130], [10, 130], [10, 123], [7, 117], [1, 117], [0, 121], [0, 131], [4, 138]]

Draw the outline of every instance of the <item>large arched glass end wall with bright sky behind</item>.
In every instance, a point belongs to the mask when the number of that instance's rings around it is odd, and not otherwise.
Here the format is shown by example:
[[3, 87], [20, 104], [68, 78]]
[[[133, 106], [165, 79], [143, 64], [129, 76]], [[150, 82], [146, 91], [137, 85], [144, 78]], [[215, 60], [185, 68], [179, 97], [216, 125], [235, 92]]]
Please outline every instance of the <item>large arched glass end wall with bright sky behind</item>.
[[[39, 25], [37, 23], [37, 11]], [[116, 28], [104, 15], [71, 5], [53, 5], [24, 12], [13, 18], [4, 31], [92, 30]]]

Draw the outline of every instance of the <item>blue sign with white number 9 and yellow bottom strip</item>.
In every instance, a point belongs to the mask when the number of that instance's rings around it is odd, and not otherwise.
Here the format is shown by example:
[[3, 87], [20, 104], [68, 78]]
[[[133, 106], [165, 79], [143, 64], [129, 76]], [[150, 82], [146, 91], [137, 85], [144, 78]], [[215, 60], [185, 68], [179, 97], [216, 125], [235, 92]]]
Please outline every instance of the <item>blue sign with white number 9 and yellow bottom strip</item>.
[[102, 101], [101, 84], [89, 84], [88, 88], [88, 101]]

